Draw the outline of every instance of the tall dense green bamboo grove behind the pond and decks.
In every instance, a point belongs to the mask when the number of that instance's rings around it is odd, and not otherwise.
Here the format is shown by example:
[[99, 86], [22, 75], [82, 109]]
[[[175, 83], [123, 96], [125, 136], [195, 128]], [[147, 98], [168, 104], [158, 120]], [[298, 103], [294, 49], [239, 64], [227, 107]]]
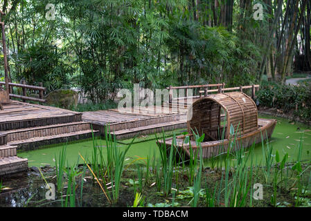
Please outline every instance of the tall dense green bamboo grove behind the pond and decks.
[[[254, 19], [263, 6], [262, 19]], [[53, 19], [46, 16], [53, 5]], [[11, 81], [118, 88], [285, 81], [310, 70], [308, 0], [2, 0]], [[0, 78], [3, 77], [3, 67]]]

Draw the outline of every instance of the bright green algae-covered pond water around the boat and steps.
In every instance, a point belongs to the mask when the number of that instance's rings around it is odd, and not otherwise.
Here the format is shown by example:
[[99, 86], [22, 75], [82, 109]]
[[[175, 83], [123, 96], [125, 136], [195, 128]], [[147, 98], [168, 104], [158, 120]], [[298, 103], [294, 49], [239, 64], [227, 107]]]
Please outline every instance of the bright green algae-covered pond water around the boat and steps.
[[[279, 117], [265, 116], [261, 115], [262, 118], [274, 118], [278, 120], [272, 138], [269, 140], [274, 148], [274, 153], [276, 150], [281, 156], [288, 153], [289, 161], [296, 160], [296, 155], [299, 150], [300, 140], [303, 140], [303, 153], [302, 160], [310, 160], [311, 156], [311, 128], [304, 124], [290, 123], [288, 119], [283, 119]], [[176, 131], [176, 133], [181, 133], [183, 130]], [[172, 135], [172, 132], [166, 133], [166, 135]], [[159, 135], [158, 135], [159, 136]], [[126, 160], [128, 163], [133, 162], [133, 160], [138, 160], [145, 157], [159, 156], [159, 150], [154, 140], [154, 135], [138, 137], [135, 143], [132, 144], [130, 150], [127, 153]], [[124, 148], [132, 140], [122, 140], [117, 145], [120, 148]], [[46, 148], [40, 148], [35, 151], [27, 151], [17, 153], [19, 157], [28, 158], [28, 166], [44, 166], [49, 164], [55, 166], [55, 155], [58, 155], [65, 144], [60, 144], [57, 146], [46, 146]], [[105, 155], [105, 140], [96, 140], [96, 146], [102, 146], [103, 154]], [[93, 141], [84, 140], [81, 142], [75, 142], [71, 144], [66, 144], [67, 160], [69, 165], [82, 164], [82, 160], [79, 157], [81, 153], [86, 158], [91, 158], [93, 151]], [[262, 160], [263, 149], [261, 144], [257, 144], [254, 148], [254, 162], [259, 164]], [[232, 159], [235, 160], [235, 159]], [[137, 161], [137, 162], [138, 162]], [[207, 162], [206, 162], [207, 164]]]

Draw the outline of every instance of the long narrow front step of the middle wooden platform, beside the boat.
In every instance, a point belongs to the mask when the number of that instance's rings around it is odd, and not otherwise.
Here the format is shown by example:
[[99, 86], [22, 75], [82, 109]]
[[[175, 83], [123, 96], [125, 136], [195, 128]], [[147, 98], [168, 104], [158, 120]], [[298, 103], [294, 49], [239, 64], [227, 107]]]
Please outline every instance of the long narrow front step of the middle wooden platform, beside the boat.
[[150, 124], [148, 126], [139, 126], [135, 128], [123, 129], [120, 131], [113, 131], [111, 134], [116, 136], [116, 139], [132, 138], [135, 135], [148, 135], [152, 133], [161, 133], [163, 131], [172, 131], [176, 129], [186, 128], [187, 121], [181, 119], [174, 122], [164, 122], [160, 124]]

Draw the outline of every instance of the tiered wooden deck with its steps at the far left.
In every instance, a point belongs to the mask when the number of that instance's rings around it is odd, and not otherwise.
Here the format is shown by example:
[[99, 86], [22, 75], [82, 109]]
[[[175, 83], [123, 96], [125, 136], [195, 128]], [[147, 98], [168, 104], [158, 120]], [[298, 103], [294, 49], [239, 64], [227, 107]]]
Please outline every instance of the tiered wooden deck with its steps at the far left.
[[3, 108], [0, 111], [0, 175], [28, 169], [28, 160], [17, 157], [17, 149], [28, 151], [92, 136], [91, 124], [82, 122], [82, 113], [15, 101], [3, 104]]

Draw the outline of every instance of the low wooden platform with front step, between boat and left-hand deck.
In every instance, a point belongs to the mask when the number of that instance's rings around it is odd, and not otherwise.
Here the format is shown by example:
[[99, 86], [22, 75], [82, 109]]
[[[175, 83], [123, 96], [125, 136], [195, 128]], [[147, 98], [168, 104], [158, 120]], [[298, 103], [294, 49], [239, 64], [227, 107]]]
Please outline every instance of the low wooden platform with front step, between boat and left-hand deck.
[[154, 111], [137, 111], [132, 109], [127, 113], [118, 110], [85, 112], [82, 119], [91, 122], [96, 131], [105, 134], [105, 127], [116, 139], [132, 138], [135, 135], [148, 135], [163, 131], [186, 128], [186, 109], [181, 108], [176, 113], [168, 108], [168, 113], [161, 113], [154, 107]]

